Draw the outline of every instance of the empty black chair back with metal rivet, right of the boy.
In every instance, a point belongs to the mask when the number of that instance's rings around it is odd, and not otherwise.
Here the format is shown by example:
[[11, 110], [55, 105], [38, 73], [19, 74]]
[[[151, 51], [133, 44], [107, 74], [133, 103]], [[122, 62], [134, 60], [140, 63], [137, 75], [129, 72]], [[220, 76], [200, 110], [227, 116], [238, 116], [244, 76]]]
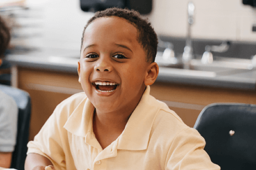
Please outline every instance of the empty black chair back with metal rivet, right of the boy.
[[210, 104], [194, 128], [205, 138], [205, 151], [221, 170], [256, 169], [256, 105]]

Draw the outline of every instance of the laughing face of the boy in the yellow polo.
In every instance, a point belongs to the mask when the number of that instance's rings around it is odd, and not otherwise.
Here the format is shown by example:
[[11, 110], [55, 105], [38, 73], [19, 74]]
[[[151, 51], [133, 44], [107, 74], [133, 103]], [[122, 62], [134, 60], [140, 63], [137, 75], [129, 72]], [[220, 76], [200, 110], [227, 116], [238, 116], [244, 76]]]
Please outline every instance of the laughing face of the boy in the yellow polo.
[[119, 17], [97, 18], [86, 28], [79, 82], [98, 111], [134, 109], [140, 101], [150, 63], [137, 37], [136, 27]]

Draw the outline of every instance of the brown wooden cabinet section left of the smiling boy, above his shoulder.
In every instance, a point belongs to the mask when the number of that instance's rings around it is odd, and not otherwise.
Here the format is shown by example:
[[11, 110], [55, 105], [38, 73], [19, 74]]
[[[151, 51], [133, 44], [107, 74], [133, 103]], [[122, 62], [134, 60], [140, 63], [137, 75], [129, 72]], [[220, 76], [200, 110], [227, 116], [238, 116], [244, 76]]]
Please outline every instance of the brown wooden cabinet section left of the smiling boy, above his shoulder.
[[17, 82], [18, 87], [31, 96], [29, 140], [39, 132], [57, 104], [83, 91], [76, 73], [18, 67]]

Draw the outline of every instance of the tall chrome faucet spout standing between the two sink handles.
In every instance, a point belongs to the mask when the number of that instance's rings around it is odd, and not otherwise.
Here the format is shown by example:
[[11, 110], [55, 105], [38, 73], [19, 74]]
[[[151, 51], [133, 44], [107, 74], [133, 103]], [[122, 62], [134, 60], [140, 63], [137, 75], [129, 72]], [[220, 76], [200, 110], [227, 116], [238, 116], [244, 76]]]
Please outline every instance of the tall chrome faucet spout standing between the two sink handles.
[[189, 69], [190, 62], [193, 59], [193, 47], [191, 40], [191, 25], [194, 23], [194, 11], [195, 6], [192, 2], [188, 3], [188, 34], [186, 38], [186, 46], [184, 47], [184, 52], [182, 54], [182, 62], [184, 64], [184, 69]]

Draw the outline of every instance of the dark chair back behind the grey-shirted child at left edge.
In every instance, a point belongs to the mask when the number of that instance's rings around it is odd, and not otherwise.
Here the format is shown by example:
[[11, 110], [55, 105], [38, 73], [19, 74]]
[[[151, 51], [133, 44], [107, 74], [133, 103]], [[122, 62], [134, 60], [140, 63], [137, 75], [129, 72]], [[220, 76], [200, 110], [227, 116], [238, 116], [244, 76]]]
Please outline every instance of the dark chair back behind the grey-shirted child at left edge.
[[15, 150], [12, 156], [12, 168], [24, 170], [27, 143], [29, 138], [29, 124], [31, 115], [31, 98], [28, 92], [7, 85], [0, 85], [0, 90], [12, 96], [19, 108], [18, 131]]

